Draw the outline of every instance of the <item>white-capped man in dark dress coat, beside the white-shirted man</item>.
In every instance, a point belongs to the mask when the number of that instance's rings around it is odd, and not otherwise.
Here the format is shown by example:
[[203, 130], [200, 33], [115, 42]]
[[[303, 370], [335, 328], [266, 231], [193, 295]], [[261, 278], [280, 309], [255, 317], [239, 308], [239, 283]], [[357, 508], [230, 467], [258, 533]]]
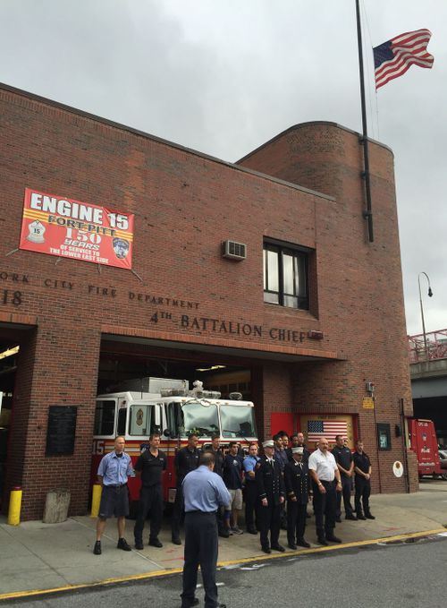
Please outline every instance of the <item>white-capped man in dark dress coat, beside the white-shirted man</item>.
[[287, 494], [287, 541], [293, 550], [297, 544], [310, 547], [304, 538], [308, 505], [308, 464], [303, 462], [303, 448], [292, 448], [292, 461], [284, 468]]

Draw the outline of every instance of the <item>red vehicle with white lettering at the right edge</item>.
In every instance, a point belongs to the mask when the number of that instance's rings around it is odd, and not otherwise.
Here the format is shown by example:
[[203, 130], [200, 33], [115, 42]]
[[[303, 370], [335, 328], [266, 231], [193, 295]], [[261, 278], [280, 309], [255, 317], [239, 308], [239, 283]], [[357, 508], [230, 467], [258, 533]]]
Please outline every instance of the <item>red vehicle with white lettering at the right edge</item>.
[[447, 471], [441, 467], [438, 440], [432, 420], [411, 418], [409, 420], [409, 442], [411, 450], [417, 455], [419, 477], [432, 475], [447, 480]]

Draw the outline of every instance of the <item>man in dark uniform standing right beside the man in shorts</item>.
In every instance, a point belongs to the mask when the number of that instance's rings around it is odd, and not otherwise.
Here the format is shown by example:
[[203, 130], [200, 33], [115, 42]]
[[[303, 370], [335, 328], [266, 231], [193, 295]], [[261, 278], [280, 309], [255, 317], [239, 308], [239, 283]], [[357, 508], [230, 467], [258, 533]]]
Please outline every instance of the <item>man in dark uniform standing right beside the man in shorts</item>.
[[135, 549], [144, 549], [143, 528], [144, 522], [150, 512], [149, 544], [153, 547], [162, 547], [158, 534], [162, 527], [163, 518], [163, 492], [162, 474], [166, 470], [167, 458], [162, 450], [158, 450], [160, 435], [154, 432], [149, 437], [149, 449], [145, 450], [135, 465], [135, 473], [141, 478], [139, 491], [139, 510], [133, 535], [135, 536]]

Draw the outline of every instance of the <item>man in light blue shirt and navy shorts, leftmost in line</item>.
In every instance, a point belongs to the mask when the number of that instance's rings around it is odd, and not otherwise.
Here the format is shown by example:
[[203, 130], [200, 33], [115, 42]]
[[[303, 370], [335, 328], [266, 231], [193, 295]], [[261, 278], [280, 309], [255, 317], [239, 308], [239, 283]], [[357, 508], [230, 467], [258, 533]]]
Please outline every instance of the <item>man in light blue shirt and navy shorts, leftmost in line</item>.
[[108, 518], [115, 517], [118, 526], [118, 549], [131, 551], [131, 547], [124, 538], [126, 516], [129, 515], [129, 492], [127, 480], [133, 476], [131, 457], [124, 452], [124, 437], [114, 440], [114, 451], [105, 454], [97, 468], [97, 482], [101, 484], [101, 502], [97, 518], [97, 542], [93, 552], [101, 555], [101, 536], [105, 530]]

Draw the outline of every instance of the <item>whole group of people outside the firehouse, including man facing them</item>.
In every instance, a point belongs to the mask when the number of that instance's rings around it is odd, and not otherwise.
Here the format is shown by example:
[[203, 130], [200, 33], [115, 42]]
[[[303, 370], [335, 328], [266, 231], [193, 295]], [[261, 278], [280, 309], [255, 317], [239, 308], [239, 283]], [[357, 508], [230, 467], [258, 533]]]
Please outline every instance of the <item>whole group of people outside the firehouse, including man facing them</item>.
[[[319, 544], [341, 543], [334, 534], [341, 521], [342, 498], [345, 517], [351, 520], [374, 519], [369, 510], [371, 463], [357, 441], [351, 453], [343, 437], [337, 435], [336, 445], [329, 451], [329, 442], [321, 437], [316, 450], [309, 452], [303, 433], [291, 436], [280, 432], [273, 440], [263, 442], [264, 454], [258, 456], [258, 446], [252, 443], [249, 454], [243, 456], [240, 445], [231, 441], [223, 453], [220, 437], [212, 437], [207, 450], [198, 448], [198, 436], [191, 433], [188, 444], [175, 457], [177, 487], [171, 532], [173, 544], [181, 544], [181, 521], [185, 530], [185, 566], [183, 570], [182, 608], [196, 605], [195, 588], [198, 565], [202, 570], [206, 592], [206, 608], [221, 606], [215, 587], [217, 535], [243, 534], [239, 527], [242, 491], [245, 493], [245, 526], [249, 534], [259, 532], [263, 552], [284, 552], [279, 543], [281, 527], [287, 529], [288, 546], [310, 547], [305, 538], [309, 496], [313, 496], [316, 537]], [[101, 535], [105, 521], [113, 515], [118, 524], [118, 548], [131, 551], [123, 537], [125, 517], [129, 514], [127, 479], [141, 479], [139, 510], [134, 526], [135, 548], [143, 549], [143, 530], [150, 513], [149, 545], [161, 548], [158, 538], [163, 517], [162, 474], [167, 457], [159, 449], [160, 435], [149, 438], [148, 450], [137, 460], [135, 472], [131, 458], [124, 452], [124, 439], [117, 437], [114, 451], [105, 455], [97, 471], [103, 486], [97, 542], [94, 553], [101, 553]], [[355, 478], [355, 507], [350, 494]], [[202, 558], [206, 555], [207, 559]]]

